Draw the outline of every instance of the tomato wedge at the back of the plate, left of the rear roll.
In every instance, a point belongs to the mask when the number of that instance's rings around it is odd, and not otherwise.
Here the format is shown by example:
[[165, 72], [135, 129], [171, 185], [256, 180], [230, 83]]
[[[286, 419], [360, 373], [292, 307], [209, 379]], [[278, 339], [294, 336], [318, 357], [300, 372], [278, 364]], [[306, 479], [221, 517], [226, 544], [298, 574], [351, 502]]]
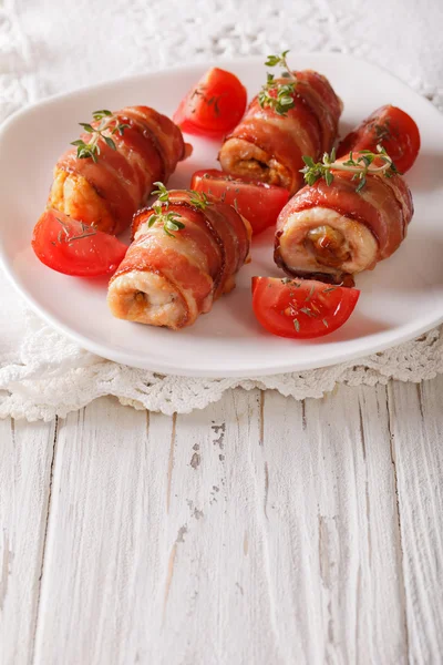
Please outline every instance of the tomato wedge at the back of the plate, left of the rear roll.
[[181, 102], [174, 122], [188, 134], [222, 136], [241, 120], [246, 88], [235, 74], [210, 69]]

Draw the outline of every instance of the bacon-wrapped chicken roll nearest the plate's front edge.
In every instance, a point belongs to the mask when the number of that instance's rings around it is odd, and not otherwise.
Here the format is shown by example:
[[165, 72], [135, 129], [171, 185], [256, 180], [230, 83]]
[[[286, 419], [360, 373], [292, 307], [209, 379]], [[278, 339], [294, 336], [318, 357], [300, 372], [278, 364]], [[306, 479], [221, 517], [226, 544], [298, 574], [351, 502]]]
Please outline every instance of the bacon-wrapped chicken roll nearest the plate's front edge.
[[171, 191], [163, 202], [135, 215], [107, 303], [117, 318], [178, 330], [235, 287], [250, 227], [234, 207], [196, 192]]

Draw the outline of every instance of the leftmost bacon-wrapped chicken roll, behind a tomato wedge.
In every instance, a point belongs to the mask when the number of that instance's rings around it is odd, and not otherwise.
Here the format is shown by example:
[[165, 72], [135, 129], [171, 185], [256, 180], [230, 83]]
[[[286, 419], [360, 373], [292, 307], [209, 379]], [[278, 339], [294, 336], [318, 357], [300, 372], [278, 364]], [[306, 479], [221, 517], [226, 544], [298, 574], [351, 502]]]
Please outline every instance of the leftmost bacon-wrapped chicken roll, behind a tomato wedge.
[[153, 183], [166, 182], [190, 146], [168, 117], [148, 106], [96, 115], [59, 160], [48, 207], [119, 234], [145, 205]]

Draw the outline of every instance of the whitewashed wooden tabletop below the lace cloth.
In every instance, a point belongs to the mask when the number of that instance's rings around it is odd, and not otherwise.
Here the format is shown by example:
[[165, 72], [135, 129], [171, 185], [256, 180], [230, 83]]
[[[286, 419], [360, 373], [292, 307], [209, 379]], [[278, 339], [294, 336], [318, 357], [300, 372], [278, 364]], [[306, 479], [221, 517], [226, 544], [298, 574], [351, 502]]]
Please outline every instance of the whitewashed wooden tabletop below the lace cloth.
[[1, 665], [441, 663], [442, 397], [0, 421]]

